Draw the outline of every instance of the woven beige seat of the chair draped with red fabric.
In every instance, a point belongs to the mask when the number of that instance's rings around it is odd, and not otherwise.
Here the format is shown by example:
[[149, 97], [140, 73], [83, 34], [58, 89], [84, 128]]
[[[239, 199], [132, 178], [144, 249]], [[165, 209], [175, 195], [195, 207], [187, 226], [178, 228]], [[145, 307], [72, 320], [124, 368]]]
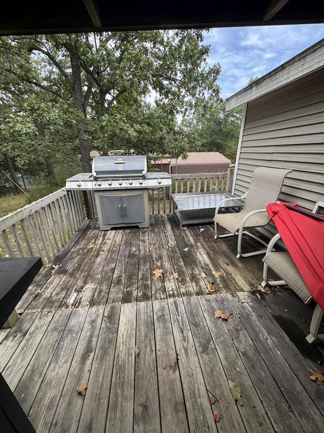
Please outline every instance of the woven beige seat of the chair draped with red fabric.
[[282, 280], [285, 280], [305, 304], [310, 303], [312, 296], [289, 252], [270, 252], [262, 261], [273, 269]]

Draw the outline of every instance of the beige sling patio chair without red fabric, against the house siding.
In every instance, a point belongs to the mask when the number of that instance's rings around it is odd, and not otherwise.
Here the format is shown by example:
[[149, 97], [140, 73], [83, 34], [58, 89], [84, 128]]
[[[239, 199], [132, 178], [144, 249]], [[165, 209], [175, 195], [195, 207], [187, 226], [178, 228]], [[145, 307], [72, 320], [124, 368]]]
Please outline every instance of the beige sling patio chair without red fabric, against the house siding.
[[[252, 235], [249, 231], [246, 231], [245, 228], [261, 227], [269, 222], [269, 215], [266, 207], [269, 203], [277, 201], [285, 177], [291, 172], [292, 170], [258, 167], [253, 172], [248, 191], [241, 197], [235, 197], [235, 199], [245, 198], [244, 207], [240, 212], [218, 213], [221, 205], [227, 200], [232, 200], [233, 198], [225, 198], [217, 206], [214, 216], [215, 239], [227, 236], [237, 236], [237, 258], [240, 256], [247, 257], [265, 253], [264, 250], [259, 250], [242, 254], [242, 236], [243, 234], [249, 235], [261, 242], [264, 246], [268, 246], [266, 242], [259, 237]], [[217, 233], [217, 224], [226, 228], [229, 233], [219, 235]]]

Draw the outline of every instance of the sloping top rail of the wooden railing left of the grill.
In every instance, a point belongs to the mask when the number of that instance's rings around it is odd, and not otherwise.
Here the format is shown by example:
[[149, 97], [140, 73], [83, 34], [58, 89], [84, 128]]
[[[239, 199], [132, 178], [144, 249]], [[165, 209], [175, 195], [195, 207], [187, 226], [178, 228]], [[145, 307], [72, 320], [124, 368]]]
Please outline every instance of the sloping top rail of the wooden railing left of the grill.
[[11, 212], [10, 214], [0, 218], [0, 233], [11, 225], [15, 224], [16, 222], [19, 222], [27, 216], [38, 211], [39, 209], [42, 209], [50, 203], [55, 202], [55, 200], [62, 197], [66, 193], [66, 188], [61, 188], [58, 191], [52, 192], [52, 194], [49, 194], [46, 197], [39, 198], [39, 200], [31, 203], [30, 205], [26, 205], [23, 208], [18, 209], [15, 212]]

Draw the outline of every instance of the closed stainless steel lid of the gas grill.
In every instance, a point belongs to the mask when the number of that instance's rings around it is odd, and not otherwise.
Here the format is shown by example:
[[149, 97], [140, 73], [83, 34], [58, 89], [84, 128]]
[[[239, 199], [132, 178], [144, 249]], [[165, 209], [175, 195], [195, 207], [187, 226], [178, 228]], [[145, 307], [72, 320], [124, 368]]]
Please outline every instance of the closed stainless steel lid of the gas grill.
[[146, 156], [96, 156], [92, 161], [94, 179], [145, 177]]

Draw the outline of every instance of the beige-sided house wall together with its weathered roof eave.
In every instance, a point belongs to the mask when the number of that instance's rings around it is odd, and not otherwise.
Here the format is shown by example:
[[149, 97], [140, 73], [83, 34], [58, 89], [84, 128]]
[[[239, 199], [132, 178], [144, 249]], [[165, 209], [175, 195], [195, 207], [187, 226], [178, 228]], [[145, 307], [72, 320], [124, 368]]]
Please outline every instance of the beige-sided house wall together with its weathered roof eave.
[[226, 110], [242, 104], [232, 192], [244, 193], [260, 165], [293, 169], [279, 199], [312, 210], [324, 199], [324, 39], [230, 96]]

